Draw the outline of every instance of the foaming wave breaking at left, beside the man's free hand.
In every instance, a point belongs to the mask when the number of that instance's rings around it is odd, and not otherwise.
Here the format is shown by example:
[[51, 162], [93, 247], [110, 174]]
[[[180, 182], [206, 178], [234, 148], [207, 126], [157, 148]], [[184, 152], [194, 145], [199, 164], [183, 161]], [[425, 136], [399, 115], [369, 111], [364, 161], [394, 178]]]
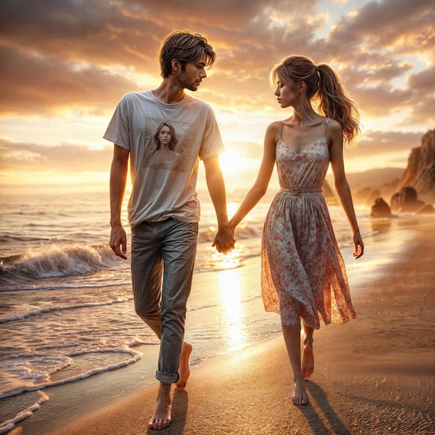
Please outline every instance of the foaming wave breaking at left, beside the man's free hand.
[[114, 270], [120, 260], [108, 245], [47, 245], [0, 261], [0, 284]]

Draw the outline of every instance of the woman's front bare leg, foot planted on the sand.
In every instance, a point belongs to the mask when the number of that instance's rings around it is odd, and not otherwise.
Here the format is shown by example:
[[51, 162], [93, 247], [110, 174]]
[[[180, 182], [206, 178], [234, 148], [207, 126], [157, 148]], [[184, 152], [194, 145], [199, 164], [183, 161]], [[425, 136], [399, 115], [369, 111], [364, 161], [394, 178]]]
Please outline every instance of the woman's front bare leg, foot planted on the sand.
[[298, 325], [282, 325], [282, 331], [295, 381], [293, 403], [306, 405], [309, 400], [305, 389], [304, 373], [301, 370], [301, 325], [300, 323]]

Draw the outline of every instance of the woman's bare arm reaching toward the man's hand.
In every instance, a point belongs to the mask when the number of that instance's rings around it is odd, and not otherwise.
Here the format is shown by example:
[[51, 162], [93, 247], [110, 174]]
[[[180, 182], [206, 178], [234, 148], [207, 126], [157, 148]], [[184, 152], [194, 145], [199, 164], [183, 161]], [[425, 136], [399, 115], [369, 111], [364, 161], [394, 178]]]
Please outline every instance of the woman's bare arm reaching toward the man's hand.
[[231, 229], [235, 229], [240, 221], [243, 220], [243, 217], [245, 217], [265, 195], [275, 164], [275, 147], [277, 145], [278, 137], [279, 122], [273, 122], [268, 126], [268, 129], [266, 129], [265, 132], [263, 159], [261, 161], [260, 169], [258, 170], [256, 181], [249, 192], [247, 192], [247, 195], [245, 199], [243, 199], [242, 204], [240, 204], [238, 211], [236, 211], [229, 221]]

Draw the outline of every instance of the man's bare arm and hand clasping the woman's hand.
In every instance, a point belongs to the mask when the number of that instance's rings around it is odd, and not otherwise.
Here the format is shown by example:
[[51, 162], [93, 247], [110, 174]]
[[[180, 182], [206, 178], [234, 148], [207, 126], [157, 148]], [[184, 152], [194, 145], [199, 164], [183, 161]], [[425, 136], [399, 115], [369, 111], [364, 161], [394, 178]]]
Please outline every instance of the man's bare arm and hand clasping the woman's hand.
[[229, 228], [227, 215], [227, 198], [225, 195], [225, 183], [219, 165], [219, 156], [213, 156], [204, 160], [206, 169], [206, 181], [211, 201], [215, 207], [217, 217], [217, 234], [213, 246], [222, 254], [231, 252], [234, 248], [233, 232]]

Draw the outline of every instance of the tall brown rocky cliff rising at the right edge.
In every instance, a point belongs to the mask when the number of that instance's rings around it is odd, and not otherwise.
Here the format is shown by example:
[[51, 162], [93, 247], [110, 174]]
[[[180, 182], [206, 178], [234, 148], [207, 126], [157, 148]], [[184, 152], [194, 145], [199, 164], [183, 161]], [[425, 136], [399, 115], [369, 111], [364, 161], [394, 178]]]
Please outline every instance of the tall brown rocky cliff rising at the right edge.
[[408, 167], [399, 181], [397, 191], [411, 186], [418, 197], [435, 202], [435, 129], [422, 137], [421, 147], [414, 148], [408, 159]]

